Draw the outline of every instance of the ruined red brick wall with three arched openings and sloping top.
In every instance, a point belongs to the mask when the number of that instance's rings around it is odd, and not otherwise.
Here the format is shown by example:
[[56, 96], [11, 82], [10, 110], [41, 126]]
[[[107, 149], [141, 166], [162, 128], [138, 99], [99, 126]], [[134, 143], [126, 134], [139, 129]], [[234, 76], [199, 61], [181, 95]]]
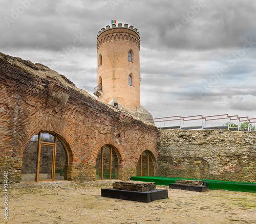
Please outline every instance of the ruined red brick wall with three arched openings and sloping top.
[[97, 101], [44, 65], [2, 53], [0, 122], [0, 166], [12, 175], [9, 182], [20, 181], [24, 148], [40, 131], [56, 133], [65, 142], [69, 180], [95, 178], [96, 157], [104, 144], [118, 150], [121, 179], [136, 175], [144, 150], [157, 156], [155, 126]]

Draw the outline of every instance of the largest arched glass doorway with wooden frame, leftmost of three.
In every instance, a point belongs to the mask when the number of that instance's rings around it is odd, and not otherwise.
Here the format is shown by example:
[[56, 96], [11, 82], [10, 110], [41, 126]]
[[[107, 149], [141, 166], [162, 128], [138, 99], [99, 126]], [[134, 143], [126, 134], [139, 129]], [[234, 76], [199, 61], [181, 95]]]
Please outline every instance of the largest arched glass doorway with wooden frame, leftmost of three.
[[27, 143], [22, 159], [22, 181], [67, 180], [69, 153], [54, 133], [39, 132]]

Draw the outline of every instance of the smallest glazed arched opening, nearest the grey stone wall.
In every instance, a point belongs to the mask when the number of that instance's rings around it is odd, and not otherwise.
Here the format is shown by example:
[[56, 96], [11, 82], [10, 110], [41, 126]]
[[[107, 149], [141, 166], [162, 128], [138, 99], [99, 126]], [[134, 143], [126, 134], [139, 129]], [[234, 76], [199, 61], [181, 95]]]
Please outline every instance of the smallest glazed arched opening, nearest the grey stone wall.
[[137, 176], [155, 176], [154, 155], [145, 150], [137, 164]]

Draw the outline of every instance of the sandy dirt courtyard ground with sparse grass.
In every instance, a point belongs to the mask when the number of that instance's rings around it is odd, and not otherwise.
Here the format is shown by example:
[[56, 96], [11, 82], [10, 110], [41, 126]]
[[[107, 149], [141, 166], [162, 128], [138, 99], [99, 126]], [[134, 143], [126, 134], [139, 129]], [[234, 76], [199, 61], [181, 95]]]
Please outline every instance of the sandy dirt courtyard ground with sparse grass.
[[0, 223], [256, 223], [256, 193], [168, 189], [168, 198], [151, 203], [101, 197], [113, 181], [22, 182], [9, 185], [8, 221], [4, 185]]

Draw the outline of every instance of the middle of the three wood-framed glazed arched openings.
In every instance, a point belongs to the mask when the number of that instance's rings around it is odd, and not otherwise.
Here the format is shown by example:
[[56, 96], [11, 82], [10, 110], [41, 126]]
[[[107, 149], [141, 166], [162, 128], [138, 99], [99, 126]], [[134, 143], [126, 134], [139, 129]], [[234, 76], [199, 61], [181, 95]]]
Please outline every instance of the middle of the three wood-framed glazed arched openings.
[[117, 148], [113, 145], [101, 147], [96, 158], [95, 180], [119, 179], [119, 160]]

